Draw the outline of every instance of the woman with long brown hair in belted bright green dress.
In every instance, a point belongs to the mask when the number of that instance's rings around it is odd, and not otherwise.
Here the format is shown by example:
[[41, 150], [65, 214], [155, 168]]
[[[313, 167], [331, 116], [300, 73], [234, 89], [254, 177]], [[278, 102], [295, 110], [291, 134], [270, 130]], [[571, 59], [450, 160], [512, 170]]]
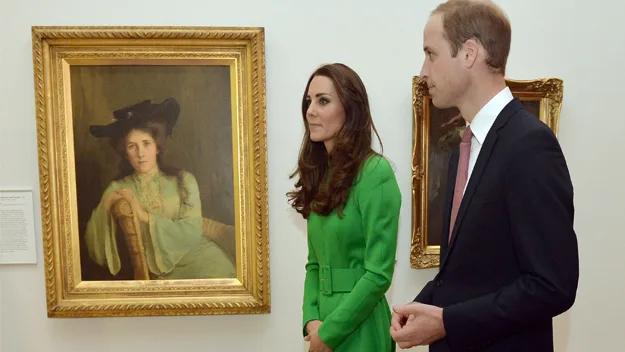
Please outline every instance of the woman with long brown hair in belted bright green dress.
[[305, 340], [313, 352], [395, 351], [384, 295], [401, 193], [391, 165], [372, 149], [365, 86], [349, 67], [324, 65], [308, 81], [302, 115], [298, 181], [288, 195], [308, 223]]

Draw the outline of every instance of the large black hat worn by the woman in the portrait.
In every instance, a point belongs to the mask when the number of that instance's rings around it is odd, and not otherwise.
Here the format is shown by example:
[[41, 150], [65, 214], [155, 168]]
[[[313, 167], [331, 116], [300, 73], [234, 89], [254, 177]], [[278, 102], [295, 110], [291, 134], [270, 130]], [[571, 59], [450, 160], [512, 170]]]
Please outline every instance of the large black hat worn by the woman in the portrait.
[[144, 100], [113, 111], [113, 122], [108, 125], [91, 125], [89, 132], [98, 138], [118, 138], [146, 122], [162, 122], [165, 124], [167, 135], [171, 135], [179, 114], [180, 105], [174, 98], [167, 98], [160, 104]]

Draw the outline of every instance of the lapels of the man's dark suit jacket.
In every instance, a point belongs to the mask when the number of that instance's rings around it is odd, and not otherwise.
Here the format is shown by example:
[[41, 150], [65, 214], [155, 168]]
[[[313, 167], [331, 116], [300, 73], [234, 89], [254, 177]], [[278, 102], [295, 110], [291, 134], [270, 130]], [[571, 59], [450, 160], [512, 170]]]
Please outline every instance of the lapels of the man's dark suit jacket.
[[[443, 268], [444, 263], [447, 261], [446, 259], [449, 258], [451, 251], [454, 248], [454, 244], [456, 243], [456, 240], [458, 238], [458, 235], [460, 234], [459, 229], [462, 226], [462, 221], [464, 220], [464, 216], [467, 212], [467, 208], [471, 204], [471, 198], [473, 197], [473, 194], [475, 193], [475, 190], [480, 183], [482, 174], [484, 173], [484, 170], [486, 169], [486, 166], [488, 165], [490, 156], [493, 152], [495, 144], [497, 143], [497, 139], [499, 138], [499, 130], [505, 125], [505, 123], [508, 121], [508, 119], [512, 115], [514, 115], [518, 110], [522, 108], [523, 108], [523, 105], [521, 104], [520, 100], [518, 100], [518, 98], [513, 99], [499, 113], [499, 115], [497, 116], [497, 119], [495, 119], [495, 122], [493, 123], [493, 126], [488, 131], [488, 134], [486, 135], [486, 138], [484, 139], [484, 144], [482, 145], [482, 148], [480, 149], [480, 154], [478, 155], [477, 160], [475, 162], [475, 166], [473, 167], [473, 171], [471, 172], [471, 177], [469, 178], [469, 183], [467, 184], [467, 188], [464, 192], [464, 196], [462, 197], [462, 202], [460, 202], [460, 208], [458, 209], [458, 216], [456, 217], [456, 223], [454, 225], [454, 229], [451, 234], [451, 243], [449, 243], [449, 248], [447, 249], [445, 260], [441, 263], [441, 269]], [[458, 161], [456, 157], [456, 161], [454, 162], [454, 169], [457, 169], [457, 167], [458, 167]], [[454, 172], [453, 175], [455, 177], [456, 173]], [[455, 178], [450, 183], [455, 184]], [[454, 185], [452, 185], [451, 187], [452, 188], [450, 189], [448, 188], [447, 191], [453, 193]], [[452, 197], [449, 197], [449, 198], [451, 199]], [[447, 219], [449, 219], [448, 214], [451, 213], [451, 204], [453, 203], [453, 200], [451, 200], [449, 203], [450, 203], [449, 207], [445, 209], [445, 212], [447, 214], [446, 216]], [[447, 221], [446, 227], [449, 228], [449, 221]]]

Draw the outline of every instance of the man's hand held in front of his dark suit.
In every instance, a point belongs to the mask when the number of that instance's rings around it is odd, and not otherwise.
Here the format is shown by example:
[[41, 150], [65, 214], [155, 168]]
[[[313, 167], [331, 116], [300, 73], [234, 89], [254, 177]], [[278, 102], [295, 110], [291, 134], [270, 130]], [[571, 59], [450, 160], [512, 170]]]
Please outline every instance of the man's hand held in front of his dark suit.
[[422, 303], [394, 306], [391, 324], [391, 336], [401, 348], [426, 346], [446, 334], [443, 309]]

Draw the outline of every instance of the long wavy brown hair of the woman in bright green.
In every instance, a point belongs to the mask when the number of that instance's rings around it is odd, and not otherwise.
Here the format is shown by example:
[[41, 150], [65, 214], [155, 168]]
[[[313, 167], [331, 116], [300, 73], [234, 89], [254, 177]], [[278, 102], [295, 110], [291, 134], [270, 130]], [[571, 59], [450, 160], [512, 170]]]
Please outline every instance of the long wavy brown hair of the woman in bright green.
[[[309, 102], [306, 99], [315, 76], [332, 80], [345, 110], [345, 123], [336, 136], [334, 148], [327, 153], [323, 142], [310, 140], [306, 120]], [[342, 217], [350, 187], [367, 157], [377, 154], [371, 147], [371, 132], [382, 141], [373, 124], [365, 85], [351, 68], [335, 63], [321, 66], [308, 79], [302, 98], [302, 117], [306, 131], [300, 149], [297, 169], [290, 178], [299, 176], [295, 190], [288, 192], [291, 206], [307, 219], [310, 212], [329, 215], [336, 209]]]

